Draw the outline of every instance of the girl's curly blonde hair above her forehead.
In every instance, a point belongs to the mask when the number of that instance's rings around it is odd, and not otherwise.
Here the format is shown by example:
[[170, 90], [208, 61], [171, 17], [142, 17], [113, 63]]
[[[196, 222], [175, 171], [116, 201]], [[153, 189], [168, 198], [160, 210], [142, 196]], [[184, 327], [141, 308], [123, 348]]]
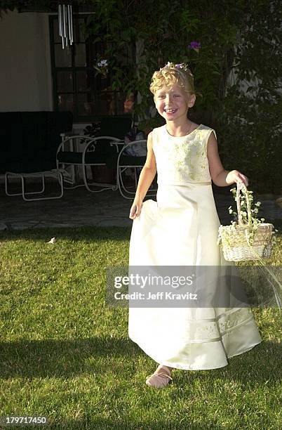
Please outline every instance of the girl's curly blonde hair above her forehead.
[[156, 91], [166, 86], [170, 89], [174, 84], [184, 89], [187, 94], [195, 94], [194, 76], [188, 67], [175, 67], [166, 65], [161, 70], [154, 72], [152, 82], [149, 86], [150, 91], [156, 94]]

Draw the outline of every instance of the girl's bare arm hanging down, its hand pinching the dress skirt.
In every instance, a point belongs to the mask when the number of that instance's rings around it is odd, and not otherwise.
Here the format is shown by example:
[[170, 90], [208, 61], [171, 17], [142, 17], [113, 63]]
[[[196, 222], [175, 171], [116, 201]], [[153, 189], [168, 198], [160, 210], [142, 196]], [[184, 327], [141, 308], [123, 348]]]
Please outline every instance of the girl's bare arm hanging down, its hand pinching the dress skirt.
[[135, 219], [136, 216], [140, 215], [144, 197], [147, 194], [149, 186], [154, 181], [154, 177], [156, 176], [156, 158], [154, 155], [152, 144], [153, 142], [151, 131], [151, 133], [148, 134], [147, 138], [147, 159], [139, 176], [135, 199], [133, 201], [133, 205], [130, 208], [130, 219]]

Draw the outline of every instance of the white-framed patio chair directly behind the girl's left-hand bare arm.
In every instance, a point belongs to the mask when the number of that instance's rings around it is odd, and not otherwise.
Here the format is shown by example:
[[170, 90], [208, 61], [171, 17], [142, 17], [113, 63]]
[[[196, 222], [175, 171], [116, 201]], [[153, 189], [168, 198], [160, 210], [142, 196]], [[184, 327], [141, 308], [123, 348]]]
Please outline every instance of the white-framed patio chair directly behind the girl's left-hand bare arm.
[[[123, 145], [123, 148], [119, 152], [116, 164], [116, 177], [119, 192], [124, 198], [130, 200], [134, 198], [138, 177], [145, 164], [146, 157], [147, 141], [145, 139], [127, 143]], [[129, 181], [125, 178], [126, 172], [130, 173], [131, 179]], [[126, 181], [129, 183], [126, 184]], [[154, 188], [152, 184], [149, 188], [149, 193], [147, 193], [147, 197], [154, 196], [155, 194], [156, 188]]]

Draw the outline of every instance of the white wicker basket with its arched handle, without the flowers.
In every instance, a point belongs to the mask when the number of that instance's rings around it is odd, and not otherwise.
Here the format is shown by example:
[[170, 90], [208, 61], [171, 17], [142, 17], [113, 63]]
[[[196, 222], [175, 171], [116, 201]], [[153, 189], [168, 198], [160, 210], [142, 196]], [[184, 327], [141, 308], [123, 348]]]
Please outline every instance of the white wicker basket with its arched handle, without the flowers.
[[[248, 223], [243, 223], [241, 215], [240, 190], [242, 188], [245, 189], [243, 195], [247, 204]], [[219, 229], [222, 251], [226, 261], [269, 259], [271, 256], [274, 226], [269, 223], [260, 223], [256, 229], [253, 228], [247, 193], [246, 186], [237, 183], [238, 224], [220, 226]], [[253, 233], [252, 239], [250, 239], [250, 233]]]

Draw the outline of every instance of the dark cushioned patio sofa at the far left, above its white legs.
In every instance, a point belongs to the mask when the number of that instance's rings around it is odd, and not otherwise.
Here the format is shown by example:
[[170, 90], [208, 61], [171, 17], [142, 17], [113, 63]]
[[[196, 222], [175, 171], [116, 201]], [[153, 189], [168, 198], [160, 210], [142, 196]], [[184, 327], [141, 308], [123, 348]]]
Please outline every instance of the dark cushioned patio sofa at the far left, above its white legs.
[[60, 133], [72, 131], [72, 112], [0, 112], [0, 174], [56, 169]]

